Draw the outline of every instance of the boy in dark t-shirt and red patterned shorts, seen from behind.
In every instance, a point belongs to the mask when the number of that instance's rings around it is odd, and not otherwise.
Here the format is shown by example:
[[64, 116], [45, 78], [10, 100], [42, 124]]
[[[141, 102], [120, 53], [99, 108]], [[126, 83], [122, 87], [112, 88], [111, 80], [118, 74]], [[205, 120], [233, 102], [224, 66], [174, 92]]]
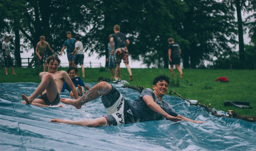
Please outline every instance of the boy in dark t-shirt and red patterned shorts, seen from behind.
[[129, 60], [128, 60], [128, 49], [127, 46], [130, 44], [130, 41], [126, 38], [125, 34], [120, 32], [120, 26], [119, 25], [115, 25], [114, 26], [114, 32], [115, 34], [111, 35], [110, 38], [110, 45], [111, 45], [111, 49], [112, 49], [112, 54], [114, 52], [114, 45], [113, 45], [113, 41], [115, 41], [115, 45], [116, 45], [116, 50], [115, 50], [115, 60], [116, 60], [116, 69], [115, 69], [115, 77], [114, 79], [116, 80], [120, 80], [120, 63], [123, 59], [124, 64], [129, 72], [129, 77], [130, 77], [130, 81], [133, 80], [132, 77], [132, 70], [131, 67], [129, 65]]

